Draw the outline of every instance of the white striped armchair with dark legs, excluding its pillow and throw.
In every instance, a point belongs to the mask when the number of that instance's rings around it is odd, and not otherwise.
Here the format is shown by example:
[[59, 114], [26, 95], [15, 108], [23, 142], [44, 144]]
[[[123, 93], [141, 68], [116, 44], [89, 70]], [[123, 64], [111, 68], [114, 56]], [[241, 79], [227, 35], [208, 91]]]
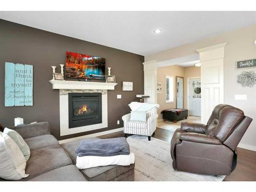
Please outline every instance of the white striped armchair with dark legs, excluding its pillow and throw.
[[130, 121], [131, 113], [122, 116], [125, 137], [128, 134], [148, 136], [148, 141], [157, 128], [157, 107], [146, 112], [147, 121]]

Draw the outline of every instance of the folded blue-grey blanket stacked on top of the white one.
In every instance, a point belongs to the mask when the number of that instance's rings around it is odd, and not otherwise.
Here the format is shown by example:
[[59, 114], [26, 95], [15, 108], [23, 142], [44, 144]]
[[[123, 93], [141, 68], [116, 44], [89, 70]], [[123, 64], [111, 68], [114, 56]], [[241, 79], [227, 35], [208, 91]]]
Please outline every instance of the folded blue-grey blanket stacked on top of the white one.
[[129, 155], [130, 146], [125, 137], [112, 139], [86, 139], [75, 149], [79, 157]]

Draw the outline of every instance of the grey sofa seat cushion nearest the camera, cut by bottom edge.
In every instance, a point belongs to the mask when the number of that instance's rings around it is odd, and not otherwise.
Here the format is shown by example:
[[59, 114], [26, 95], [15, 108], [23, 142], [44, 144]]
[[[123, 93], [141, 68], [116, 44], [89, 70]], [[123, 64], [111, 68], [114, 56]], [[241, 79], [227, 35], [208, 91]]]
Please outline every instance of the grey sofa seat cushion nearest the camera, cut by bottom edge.
[[29, 181], [87, 181], [75, 165], [56, 168]]

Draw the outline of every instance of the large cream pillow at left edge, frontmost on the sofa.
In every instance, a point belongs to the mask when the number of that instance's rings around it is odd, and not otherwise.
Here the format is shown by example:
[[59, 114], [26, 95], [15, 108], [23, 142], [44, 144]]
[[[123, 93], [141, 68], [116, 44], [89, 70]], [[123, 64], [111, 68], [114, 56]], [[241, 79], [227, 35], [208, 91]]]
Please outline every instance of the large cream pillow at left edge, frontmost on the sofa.
[[0, 132], [0, 177], [6, 180], [19, 180], [25, 174], [26, 160], [14, 140]]

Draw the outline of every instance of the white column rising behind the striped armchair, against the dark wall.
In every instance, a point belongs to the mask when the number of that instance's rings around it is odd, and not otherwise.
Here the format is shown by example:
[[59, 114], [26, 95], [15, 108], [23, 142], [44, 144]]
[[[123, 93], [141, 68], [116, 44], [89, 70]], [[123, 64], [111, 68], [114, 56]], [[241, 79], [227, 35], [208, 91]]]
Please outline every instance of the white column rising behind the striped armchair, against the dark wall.
[[144, 66], [144, 94], [150, 95], [145, 102], [157, 103], [157, 61], [143, 62]]

